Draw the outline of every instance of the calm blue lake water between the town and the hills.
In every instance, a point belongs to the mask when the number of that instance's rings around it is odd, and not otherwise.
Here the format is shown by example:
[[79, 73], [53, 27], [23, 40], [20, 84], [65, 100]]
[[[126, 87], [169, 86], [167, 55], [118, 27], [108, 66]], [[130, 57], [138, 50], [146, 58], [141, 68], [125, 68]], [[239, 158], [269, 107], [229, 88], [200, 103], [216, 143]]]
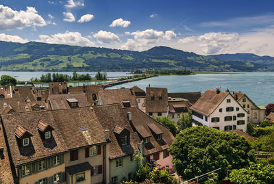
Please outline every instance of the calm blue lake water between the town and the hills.
[[[20, 81], [27, 81], [31, 77], [40, 77], [48, 72], [0, 72], [0, 75], [10, 75]], [[62, 72], [72, 75], [72, 72]], [[79, 72], [85, 74], [86, 72]], [[96, 72], [88, 72], [95, 77]], [[125, 72], [108, 72], [108, 77], [127, 76]], [[85, 83], [94, 84], [94, 83]], [[189, 76], [160, 76], [132, 83], [113, 86], [112, 88], [131, 88], [138, 86], [145, 90], [147, 86], [168, 88], [169, 92], [205, 92], [207, 89], [241, 91], [247, 94], [256, 105], [274, 103], [274, 73], [234, 73], [234, 74], [198, 74]], [[83, 83], [71, 83], [82, 86]]]

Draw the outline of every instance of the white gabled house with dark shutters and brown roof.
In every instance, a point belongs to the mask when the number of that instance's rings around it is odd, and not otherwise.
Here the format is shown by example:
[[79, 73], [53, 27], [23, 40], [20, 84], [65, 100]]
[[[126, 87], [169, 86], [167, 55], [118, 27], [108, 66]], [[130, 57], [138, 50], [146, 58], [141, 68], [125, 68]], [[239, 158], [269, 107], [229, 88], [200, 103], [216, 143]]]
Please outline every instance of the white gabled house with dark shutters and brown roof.
[[247, 111], [227, 90], [206, 90], [190, 107], [194, 125], [206, 125], [224, 131], [247, 131]]

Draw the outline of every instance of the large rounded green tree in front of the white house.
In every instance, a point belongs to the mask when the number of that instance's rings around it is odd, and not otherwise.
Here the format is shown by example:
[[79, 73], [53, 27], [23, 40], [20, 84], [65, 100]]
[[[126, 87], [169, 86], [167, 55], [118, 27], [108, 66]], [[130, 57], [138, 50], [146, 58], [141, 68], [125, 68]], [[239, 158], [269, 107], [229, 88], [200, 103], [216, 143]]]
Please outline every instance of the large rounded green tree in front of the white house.
[[247, 138], [206, 126], [181, 131], [170, 153], [177, 174], [186, 180], [217, 168], [239, 169], [255, 161]]

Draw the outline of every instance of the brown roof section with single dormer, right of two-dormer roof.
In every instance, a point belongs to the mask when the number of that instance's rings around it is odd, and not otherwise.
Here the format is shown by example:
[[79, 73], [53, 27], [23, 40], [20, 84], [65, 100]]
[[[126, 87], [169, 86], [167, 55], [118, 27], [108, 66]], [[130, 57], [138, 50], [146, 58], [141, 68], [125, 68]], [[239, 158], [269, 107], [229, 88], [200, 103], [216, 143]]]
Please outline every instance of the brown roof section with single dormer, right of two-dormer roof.
[[[120, 103], [99, 105], [93, 107], [93, 109], [103, 128], [110, 130], [110, 159], [124, 157], [125, 155], [132, 155], [134, 152], [138, 152], [140, 139], [137, 133], [133, 131]], [[114, 131], [117, 131], [117, 125], [120, 130], [127, 129], [129, 131], [130, 144], [125, 146], [119, 145], [116, 135], [114, 134]]]

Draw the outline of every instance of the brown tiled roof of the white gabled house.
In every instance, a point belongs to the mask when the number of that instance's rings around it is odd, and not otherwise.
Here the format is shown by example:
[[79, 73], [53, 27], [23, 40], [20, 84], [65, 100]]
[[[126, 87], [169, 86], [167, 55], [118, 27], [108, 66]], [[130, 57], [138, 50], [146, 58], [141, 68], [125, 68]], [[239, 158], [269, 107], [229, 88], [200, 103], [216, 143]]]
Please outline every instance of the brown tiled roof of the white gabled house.
[[205, 116], [209, 116], [223, 102], [227, 95], [230, 95], [230, 93], [220, 91], [218, 94], [216, 90], [206, 90], [190, 109]]

